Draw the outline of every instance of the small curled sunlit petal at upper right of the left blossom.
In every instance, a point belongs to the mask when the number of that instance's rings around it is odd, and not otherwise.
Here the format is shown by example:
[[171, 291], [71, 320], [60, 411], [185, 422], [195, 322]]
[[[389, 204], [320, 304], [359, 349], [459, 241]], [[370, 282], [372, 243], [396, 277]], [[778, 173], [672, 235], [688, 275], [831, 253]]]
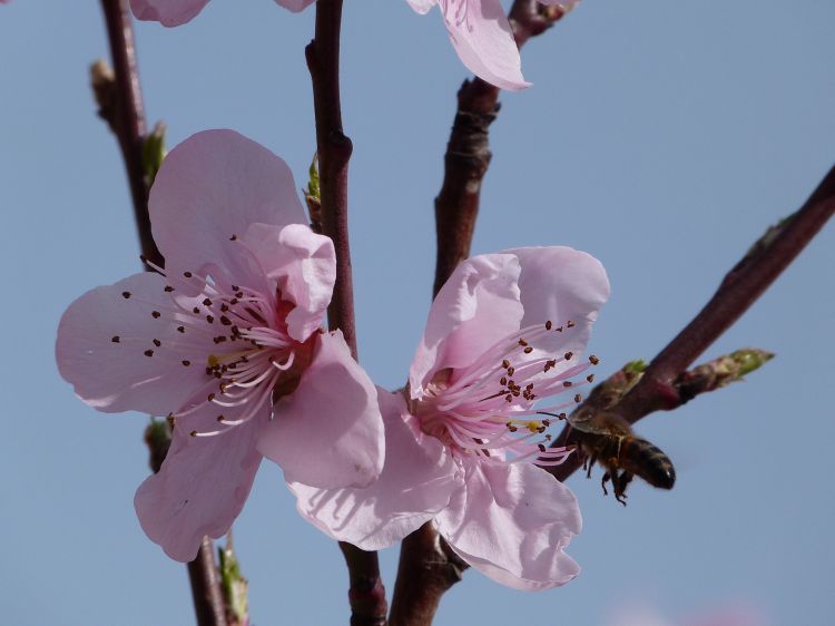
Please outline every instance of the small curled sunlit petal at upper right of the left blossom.
[[289, 336], [305, 341], [322, 325], [331, 303], [336, 282], [333, 242], [303, 224], [253, 224], [244, 239], [266, 275], [277, 281], [282, 299], [295, 304], [286, 317]]

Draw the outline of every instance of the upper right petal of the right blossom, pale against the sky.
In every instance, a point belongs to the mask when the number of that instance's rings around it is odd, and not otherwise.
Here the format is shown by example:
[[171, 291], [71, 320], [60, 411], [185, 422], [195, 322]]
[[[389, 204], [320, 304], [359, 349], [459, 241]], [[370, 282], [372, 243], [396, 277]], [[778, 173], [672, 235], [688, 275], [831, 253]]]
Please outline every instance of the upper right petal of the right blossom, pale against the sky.
[[563, 333], [551, 333], [552, 342], [538, 348], [562, 352], [582, 352], [591, 334], [598, 310], [609, 299], [609, 278], [602, 264], [584, 252], [564, 246], [523, 247], [503, 251], [519, 258], [522, 267], [519, 291], [524, 317], [522, 326], [554, 325], [572, 321]]

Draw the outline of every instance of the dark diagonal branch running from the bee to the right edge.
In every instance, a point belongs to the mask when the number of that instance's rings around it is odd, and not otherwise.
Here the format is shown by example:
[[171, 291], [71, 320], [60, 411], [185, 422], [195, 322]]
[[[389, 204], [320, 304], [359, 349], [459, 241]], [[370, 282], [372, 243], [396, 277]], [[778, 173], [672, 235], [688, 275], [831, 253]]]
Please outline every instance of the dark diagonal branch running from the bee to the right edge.
[[[635, 423], [654, 411], [671, 410], [689, 400], [694, 392], [691, 376], [699, 374], [694, 372], [688, 376], [685, 370], [756, 302], [823, 228], [833, 212], [835, 167], [797, 213], [769, 228], [728, 272], [710, 301], [652, 359], [640, 381], [613, 405], [612, 411]], [[553, 446], [571, 443], [568, 430], [560, 433]], [[579, 459], [572, 454], [549, 471], [564, 480], [579, 467]]]

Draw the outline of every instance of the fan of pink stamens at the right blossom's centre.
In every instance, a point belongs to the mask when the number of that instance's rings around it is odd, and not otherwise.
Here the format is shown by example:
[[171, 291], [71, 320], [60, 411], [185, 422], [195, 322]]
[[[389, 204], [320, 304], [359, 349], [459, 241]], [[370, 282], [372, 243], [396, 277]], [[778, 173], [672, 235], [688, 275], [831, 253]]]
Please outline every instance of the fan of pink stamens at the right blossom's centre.
[[[563, 462], [573, 448], [549, 448], [550, 419], [566, 418], [564, 409], [582, 401], [576, 389], [595, 380], [571, 380], [596, 365], [597, 356], [578, 362], [572, 352], [556, 354], [537, 348], [551, 333], [571, 333], [573, 322], [550, 321], [528, 326], [489, 348], [472, 364], [438, 372], [425, 395], [413, 403], [421, 428], [455, 452], [500, 458], [508, 462], [533, 459], [538, 464]], [[547, 342], [542, 341], [543, 344]], [[534, 409], [538, 398], [571, 392], [569, 401]]]

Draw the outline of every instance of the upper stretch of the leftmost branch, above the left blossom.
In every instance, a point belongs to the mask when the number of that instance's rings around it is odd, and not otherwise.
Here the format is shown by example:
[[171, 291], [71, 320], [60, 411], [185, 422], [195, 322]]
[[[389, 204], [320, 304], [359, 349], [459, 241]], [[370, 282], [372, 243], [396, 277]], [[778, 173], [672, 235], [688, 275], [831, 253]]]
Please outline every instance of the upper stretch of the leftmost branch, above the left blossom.
[[134, 202], [134, 219], [139, 234], [140, 250], [146, 258], [161, 266], [163, 256], [154, 243], [148, 217], [148, 184], [143, 168], [145, 113], [136, 66], [130, 9], [127, 0], [101, 0], [101, 8], [107, 23], [115, 84], [110, 90], [111, 96], [106, 99], [99, 97], [99, 90], [96, 90], [99, 115], [119, 140]]

